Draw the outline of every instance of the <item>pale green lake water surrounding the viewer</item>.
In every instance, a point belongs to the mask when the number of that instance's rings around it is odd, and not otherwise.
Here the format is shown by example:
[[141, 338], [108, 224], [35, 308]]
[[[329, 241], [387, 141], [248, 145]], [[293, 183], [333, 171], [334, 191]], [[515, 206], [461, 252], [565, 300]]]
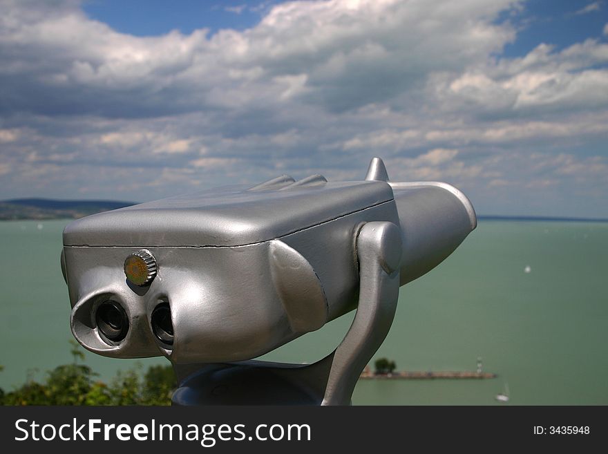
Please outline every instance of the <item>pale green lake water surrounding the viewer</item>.
[[[70, 361], [70, 305], [59, 267], [68, 220], [0, 222], [0, 387], [41, 379]], [[353, 403], [608, 404], [608, 223], [482, 220], [444, 263], [401, 287], [397, 316], [375, 358], [399, 370], [475, 370], [486, 380], [359, 381]], [[264, 359], [312, 362], [329, 353], [352, 314]], [[118, 369], [167, 363], [86, 352], [111, 379]], [[504, 404], [501, 404], [504, 405]]]

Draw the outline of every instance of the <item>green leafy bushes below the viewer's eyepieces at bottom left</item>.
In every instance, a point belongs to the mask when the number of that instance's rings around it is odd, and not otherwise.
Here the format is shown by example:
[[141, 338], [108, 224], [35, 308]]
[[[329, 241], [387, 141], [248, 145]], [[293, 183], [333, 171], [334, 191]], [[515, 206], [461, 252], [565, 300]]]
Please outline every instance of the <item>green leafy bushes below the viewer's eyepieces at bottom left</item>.
[[[0, 388], [3, 405], [169, 405], [177, 387], [171, 366], [151, 366], [142, 375], [142, 367], [118, 372], [111, 384], [80, 364], [84, 353], [70, 342], [73, 363], [57, 366], [46, 374], [43, 383], [29, 378], [14, 391]], [[1, 366], [0, 366], [1, 370]]]

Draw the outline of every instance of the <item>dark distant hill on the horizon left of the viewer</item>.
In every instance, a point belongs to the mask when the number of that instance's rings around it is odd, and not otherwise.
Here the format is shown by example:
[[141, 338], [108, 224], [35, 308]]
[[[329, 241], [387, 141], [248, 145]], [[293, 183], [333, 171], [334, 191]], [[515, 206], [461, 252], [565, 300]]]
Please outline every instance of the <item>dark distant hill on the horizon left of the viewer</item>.
[[129, 207], [135, 203], [117, 200], [17, 198], [0, 201], [0, 220], [82, 218], [89, 214]]

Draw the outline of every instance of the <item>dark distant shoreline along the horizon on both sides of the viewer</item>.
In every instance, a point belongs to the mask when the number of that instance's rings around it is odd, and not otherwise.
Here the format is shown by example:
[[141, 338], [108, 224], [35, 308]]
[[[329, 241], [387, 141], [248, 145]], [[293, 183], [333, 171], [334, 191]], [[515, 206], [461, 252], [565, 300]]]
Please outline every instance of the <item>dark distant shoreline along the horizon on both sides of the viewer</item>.
[[[102, 211], [137, 205], [137, 203], [121, 200], [55, 200], [46, 198], [0, 200], [0, 220], [77, 219]], [[608, 223], [608, 218], [570, 218], [567, 216], [478, 215], [477, 220]]]

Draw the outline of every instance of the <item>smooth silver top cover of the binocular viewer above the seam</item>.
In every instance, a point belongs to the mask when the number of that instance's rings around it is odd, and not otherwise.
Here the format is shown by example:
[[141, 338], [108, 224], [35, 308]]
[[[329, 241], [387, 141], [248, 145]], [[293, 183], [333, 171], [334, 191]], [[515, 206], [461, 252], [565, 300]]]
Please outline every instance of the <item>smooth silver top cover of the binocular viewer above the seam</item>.
[[249, 245], [325, 223], [392, 198], [386, 182], [328, 183], [319, 176], [267, 190], [223, 187], [75, 220], [64, 230], [64, 245]]

